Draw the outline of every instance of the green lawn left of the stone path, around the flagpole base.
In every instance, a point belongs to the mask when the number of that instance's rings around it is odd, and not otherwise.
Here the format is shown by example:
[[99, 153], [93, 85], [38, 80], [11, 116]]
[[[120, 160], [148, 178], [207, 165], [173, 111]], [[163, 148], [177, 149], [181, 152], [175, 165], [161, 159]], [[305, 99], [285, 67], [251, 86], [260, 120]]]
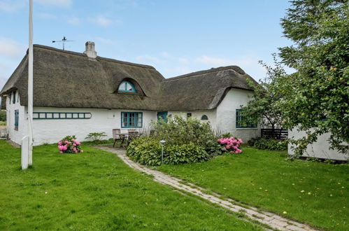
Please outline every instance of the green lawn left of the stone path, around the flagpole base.
[[115, 154], [84, 149], [36, 147], [34, 168], [22, 171], [20, 149], [0, 140], [0, 230], [261, 230], [155, 183]]

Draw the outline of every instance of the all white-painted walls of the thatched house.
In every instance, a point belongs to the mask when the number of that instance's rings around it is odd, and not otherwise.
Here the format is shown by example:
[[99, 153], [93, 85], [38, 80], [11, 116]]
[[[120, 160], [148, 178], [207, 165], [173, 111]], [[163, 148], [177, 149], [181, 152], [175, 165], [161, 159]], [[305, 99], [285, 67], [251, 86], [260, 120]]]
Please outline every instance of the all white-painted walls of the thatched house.
[[[227, 92], [217, 109], [168, 111], [168, 115], [186, 117], [187, 113], [192, 113], [192, 117], [199, 120], [201, 120], [201, 116], [206, 115], [213, 130], [216, 132], [231, 132], [234, 136], [246, 142], [252, 137], [259, 136], [260, 126], [258, 125], [257, 128], [236, 128], [236, 109], [240, 109], [241, 105], [245, 106], [251, 99], [252, 94], [248, 90], [232, 89]], [[10, 104], [10, 97], [7, 97], [6, 109], [9, 137], [15, 143], [21, 144], [22, 137], [27, 133], [27, 123], [25, 123], [27, 120], [27, 107], [20, 106], [20, 100], [18, 102], [16, 100], [15, 104], [12, 102]], [[14, 129], [16, 109], [20, 112], [18, 130]], [[106, 139], [111, 138], [112, 130], [121, 128], [122, 111], [143, 112], [143, 129], [148, 129], [150, 122], [157, 120], [157, 111], [34, 107], [34, 112], [92, 113], [92, 118], [90, 119], [34, 119], [34, 145], [56, 143], [67, 135], [76, 135], [78, 140], [84, 141], [90, 132], [106, 132], [108, 135]]]

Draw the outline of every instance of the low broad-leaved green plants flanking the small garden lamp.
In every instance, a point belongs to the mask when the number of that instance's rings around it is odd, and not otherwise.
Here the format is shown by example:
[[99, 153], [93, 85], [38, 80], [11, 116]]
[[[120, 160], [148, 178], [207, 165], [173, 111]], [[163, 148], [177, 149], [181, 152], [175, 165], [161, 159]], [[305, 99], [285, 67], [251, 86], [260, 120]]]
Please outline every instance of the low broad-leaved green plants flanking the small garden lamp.
[[[161, 165], [162, 148], [159, 139], [141, 137], [129, 144], [127, 155], [142, 165]], [[210, 158], [205, 149], [192, 142], [182, 145], [164, 146], [164, 164], [178, 165], [185, 163], [204, 162]]]

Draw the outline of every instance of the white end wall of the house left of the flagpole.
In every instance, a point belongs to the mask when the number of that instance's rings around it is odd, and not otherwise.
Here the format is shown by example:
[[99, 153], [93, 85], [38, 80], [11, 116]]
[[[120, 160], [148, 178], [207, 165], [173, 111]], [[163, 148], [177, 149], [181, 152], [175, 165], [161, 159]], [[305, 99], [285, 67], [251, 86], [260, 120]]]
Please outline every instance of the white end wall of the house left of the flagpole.
[[[27, 111], [24, 106], [20, 106], [18, 91], [16, 92], [15, 104], [12, 97], [6, 97], [6, 128], [8, 137], [15, 143], [21, 144], [22, 138], [27, 134]], [[15, 110], [19, 111], [18, 130], [15, 130]]]

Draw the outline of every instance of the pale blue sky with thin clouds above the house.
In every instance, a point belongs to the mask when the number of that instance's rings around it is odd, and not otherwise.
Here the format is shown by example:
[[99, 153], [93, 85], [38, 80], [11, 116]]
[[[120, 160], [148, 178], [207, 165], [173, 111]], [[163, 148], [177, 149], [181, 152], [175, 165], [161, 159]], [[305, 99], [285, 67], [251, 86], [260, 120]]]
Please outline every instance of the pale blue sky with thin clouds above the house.
[[[0, 0], [0, 89], [27, 50], [25, 0]], [[34, 0], [34, 43], [149, 64], [165, 78], [211, 67], [238, 65], [255, 79], [271, 53], [290, 45], [280, 18], [283, 0]]]

